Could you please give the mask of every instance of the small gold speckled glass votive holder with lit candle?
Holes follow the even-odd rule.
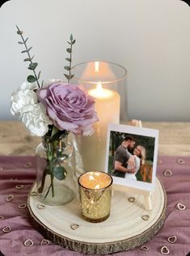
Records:
[[[107,220],[111,210],[112,176],[100,171],[78,177],[82,217],[90,222]]]

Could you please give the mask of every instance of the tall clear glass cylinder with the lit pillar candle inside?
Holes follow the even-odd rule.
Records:
[[[108,124],[120,123],[120,119],[125,119],[127,112],[127,70],[116,63],[103,61],[82,62],[72,70],[72,82],[83,85],[88,94],[95,97],[95,110],[99,117],[99,122],[93,125],[94,134],[75,138],[77,171],[105,171]]]

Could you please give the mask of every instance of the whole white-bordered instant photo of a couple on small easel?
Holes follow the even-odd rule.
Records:
[[[105,171],[116,185],[154,190],[158,130],[109,124]]]

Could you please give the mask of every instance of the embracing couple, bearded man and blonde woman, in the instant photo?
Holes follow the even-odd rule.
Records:
[[[137,145],[132,136],[126,136],[124,141],[116,148],[113,161],[113,176],[125,177],[127,179],[137,180],[136,174],[146,160],[146,148]],[[133,150],[133,154],[130,151]]]

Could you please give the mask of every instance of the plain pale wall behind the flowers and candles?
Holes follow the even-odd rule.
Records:
[[[44,79],[63,78],[66,41],[74,64],[103,59],[128,70],[128,118],[190,121],[190,7],[179,0],[11,0],[0,9],[0,118],[28,75],[15,24],[29,36]]]

